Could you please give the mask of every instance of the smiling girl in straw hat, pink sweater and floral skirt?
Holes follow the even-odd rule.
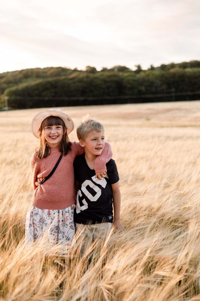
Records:
[[[73,161],[84,149],[79,143],[69,141],[73,129],[73,121],[61,109],[41,111],[32,120],[32,133],[39,138],[40,145],[30,160],[34,194],[26,216],[26,244],[33,244],[44,233],[53,244],[70,244],[74,237]],[[111,157],[110,144],[105,143],[102,154],[95,160],[99,179],[105,176],[105,164]]]

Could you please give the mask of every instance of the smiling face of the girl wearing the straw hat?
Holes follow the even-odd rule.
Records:
[[[62,140],[62,135],[66,132],[66,128],[63,129],[62,126],[45,126],[44,137],[47,140],[47,144],[50,148],[60,145]]]

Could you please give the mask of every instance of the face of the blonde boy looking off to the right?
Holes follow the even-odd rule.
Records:
[[[85,141],[80,140],[80,145],[84,147],[85,153],[98,156],[104,149],[104,138],[104,131],[100,133],[92,131],[88,133]]]

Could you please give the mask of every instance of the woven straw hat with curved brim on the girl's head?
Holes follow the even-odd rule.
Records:
[[[36,138],[39,138],[39,128],[41,127],[42,121],[49,116],[60,117],[64,121],[67,128],[67,135],[73,131],[73,121],[67,114],[63,113],[61,109],[44,110],[36,114],[31,123],[31,130]]]

